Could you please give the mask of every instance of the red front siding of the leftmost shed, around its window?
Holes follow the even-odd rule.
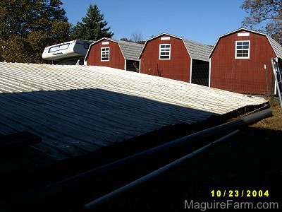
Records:
[[[102,45],[102,42],[109,42],[109,45]],[[110,47],[109,61],[101,61],[101,48]],[[125,69],[125,59],[121,53],[118,43],[110,40],[101,40],[90,47],[87,56],[87,65],[90,66],[108,66],[116,69]]]

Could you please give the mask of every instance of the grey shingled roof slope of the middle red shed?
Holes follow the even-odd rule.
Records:
[[[183,42],[185,43],[192,59],[209,61],[209,53],[212,52],[212,47],[192,40],[183,39]]]

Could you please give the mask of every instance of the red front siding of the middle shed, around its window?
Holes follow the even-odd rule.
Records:
[[[147,42],[140,58],[141,73],[189,82],[191,59],[183,40],[176,37],[161,40],[161,37],[171,36],[162,35]],[[159,59],[160,44],[171,44],[171,59]]]

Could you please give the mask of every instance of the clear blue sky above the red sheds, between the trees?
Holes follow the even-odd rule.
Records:
[[[111,27],[114,39],[142,34],[169,33],[214,45],[219,35],[237,30],[247,15],[244,0],[61,0],[68,21],[75,25],[86,16],[90,4],[97,4]]]

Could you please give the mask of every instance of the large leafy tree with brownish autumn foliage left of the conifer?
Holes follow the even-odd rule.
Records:
[[[1,0],[0,60],[42,63],[44,47],[70,35],[61,5],[60,0]]]

